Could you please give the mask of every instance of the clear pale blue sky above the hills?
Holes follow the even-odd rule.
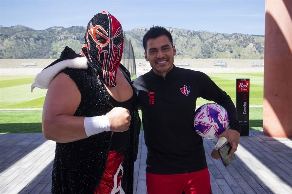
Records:
[[[86,26],[103,10],[124,30],[160,25],[228,34],[265,32],[265,0],[0,0],[0,25],[36,30]]]

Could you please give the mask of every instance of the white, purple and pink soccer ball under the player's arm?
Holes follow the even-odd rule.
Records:
[[[196,132],[206,139],[215,139],[229,128],[228,112],[215,103],[200,106],[194,117]]]

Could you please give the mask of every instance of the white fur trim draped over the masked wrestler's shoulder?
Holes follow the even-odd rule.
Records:
[[[34,88],[48,89],[50,82],[54,77],[66,67],[75,69],[87,69],[86,57],[76,57],[74,59],[66,59],[60,61],[46,69],[43,69],[39,74],[36,75],[33,84],[30,87],[31,92]]]

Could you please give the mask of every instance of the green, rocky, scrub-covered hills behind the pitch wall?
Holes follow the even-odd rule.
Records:
[[[221,34],[167,28],[176,45],[177,59],[263,59],[264,36]],[[124,32],[125,45],[131,39],[135,58],[144,58],[142,38],[148,28],[135,28]],[[85,27],[51,27],[34,30],[25,26],[0,26],[0,59],[59,58],[65,46],[80,50]],[[126,55],[127,56],[127,55]]]

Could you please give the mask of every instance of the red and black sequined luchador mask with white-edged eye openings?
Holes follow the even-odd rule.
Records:
[[[123,53],[123,29],[120,22],[106,11],[96,14],[88,23],[81,55],[94,68],[102,68],[103,80],[116,86],[116,72]]]

